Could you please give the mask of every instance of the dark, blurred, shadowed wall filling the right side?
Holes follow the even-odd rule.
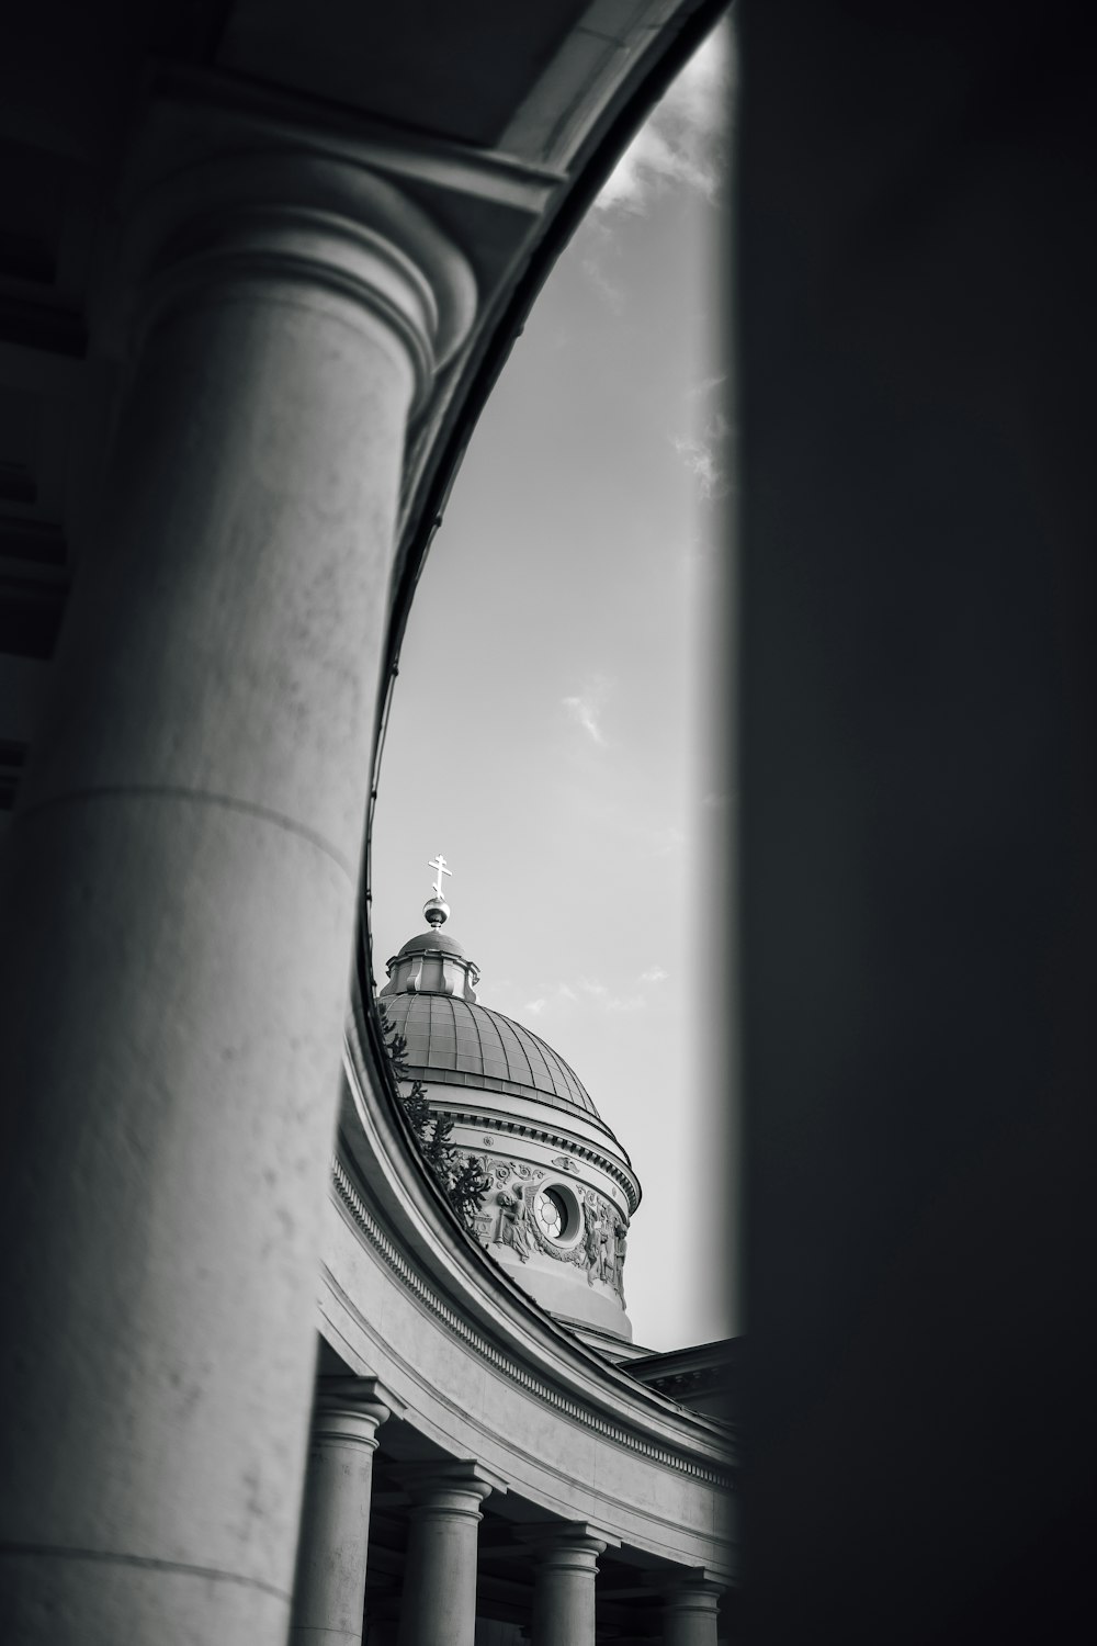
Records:
[[[737,12],[747,1638],[1066,1638],[1094,1490],[1092,25]]]

